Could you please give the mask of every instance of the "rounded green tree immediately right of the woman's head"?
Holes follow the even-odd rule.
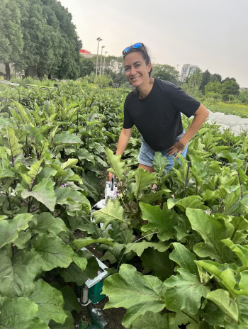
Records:
[[[172,84],[179,84],[179,71],[175,67],[164,64],[152,65],[152,76],[162,80],[171,82]]]

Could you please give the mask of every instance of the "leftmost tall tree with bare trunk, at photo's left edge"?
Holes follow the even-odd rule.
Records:
[[[17,62],[23,50],[21,13],[16,0],[1,0],[0,45],[0,62],[4,62],[6,79],[10,79],[9,64]]]

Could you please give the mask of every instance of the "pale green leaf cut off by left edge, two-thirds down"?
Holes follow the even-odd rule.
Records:
[[[0,221],[0,248],[16,240],[18,238],[18,232],[26,230],[32,218],[33,215],[30,213],[21,213],[13,219],[3,219]]]

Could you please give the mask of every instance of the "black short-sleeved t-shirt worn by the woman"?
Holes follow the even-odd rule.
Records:
[[[200,105],[180,87],[154,79],[145,99],[139,99],[137,91],[126,97],[123,128],[135,125],[152,150],[164,151],[174,145],[176,137],[184,131],[181,113],[189,118]]]

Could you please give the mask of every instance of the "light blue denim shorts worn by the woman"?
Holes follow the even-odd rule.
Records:
[[[184,134],[185,134],[185,131],[183,131],[183,133],[181,133],[181,135],[179,135],[176,138],[176,142],[178,142],[179,139],[182,138]],[[187,149],[188,149],[188,144],[186,145],[184,150],[181,152],[181,155],[184,157],[184,159],[186,159]],[[152,148],[149,145],[147,145],[147,143],[145,143],[145,140],[142,138],[142,144],[141,144],[141,147],[140,147],[140,154],[139,154],[139,157],[137,158],[140,165],[153,167],[153,157],[155,155],[155,152],[156,151],[152,150]],[[167,155],[167,151],[162,151],[161,153],[162,153],[162,155],[164,155],[164,157],[167,157],[167,160],[169,161],[168,165],[165,167],[165,170],[164,170],[164,174],[166,174],[169,170],[171,170],[173,168],[173,166],[174,166],[174,157],[176,156],[176,154],[171,155],[169,157]],[[180,160],[179,160],[179,163],[181,163]]]

